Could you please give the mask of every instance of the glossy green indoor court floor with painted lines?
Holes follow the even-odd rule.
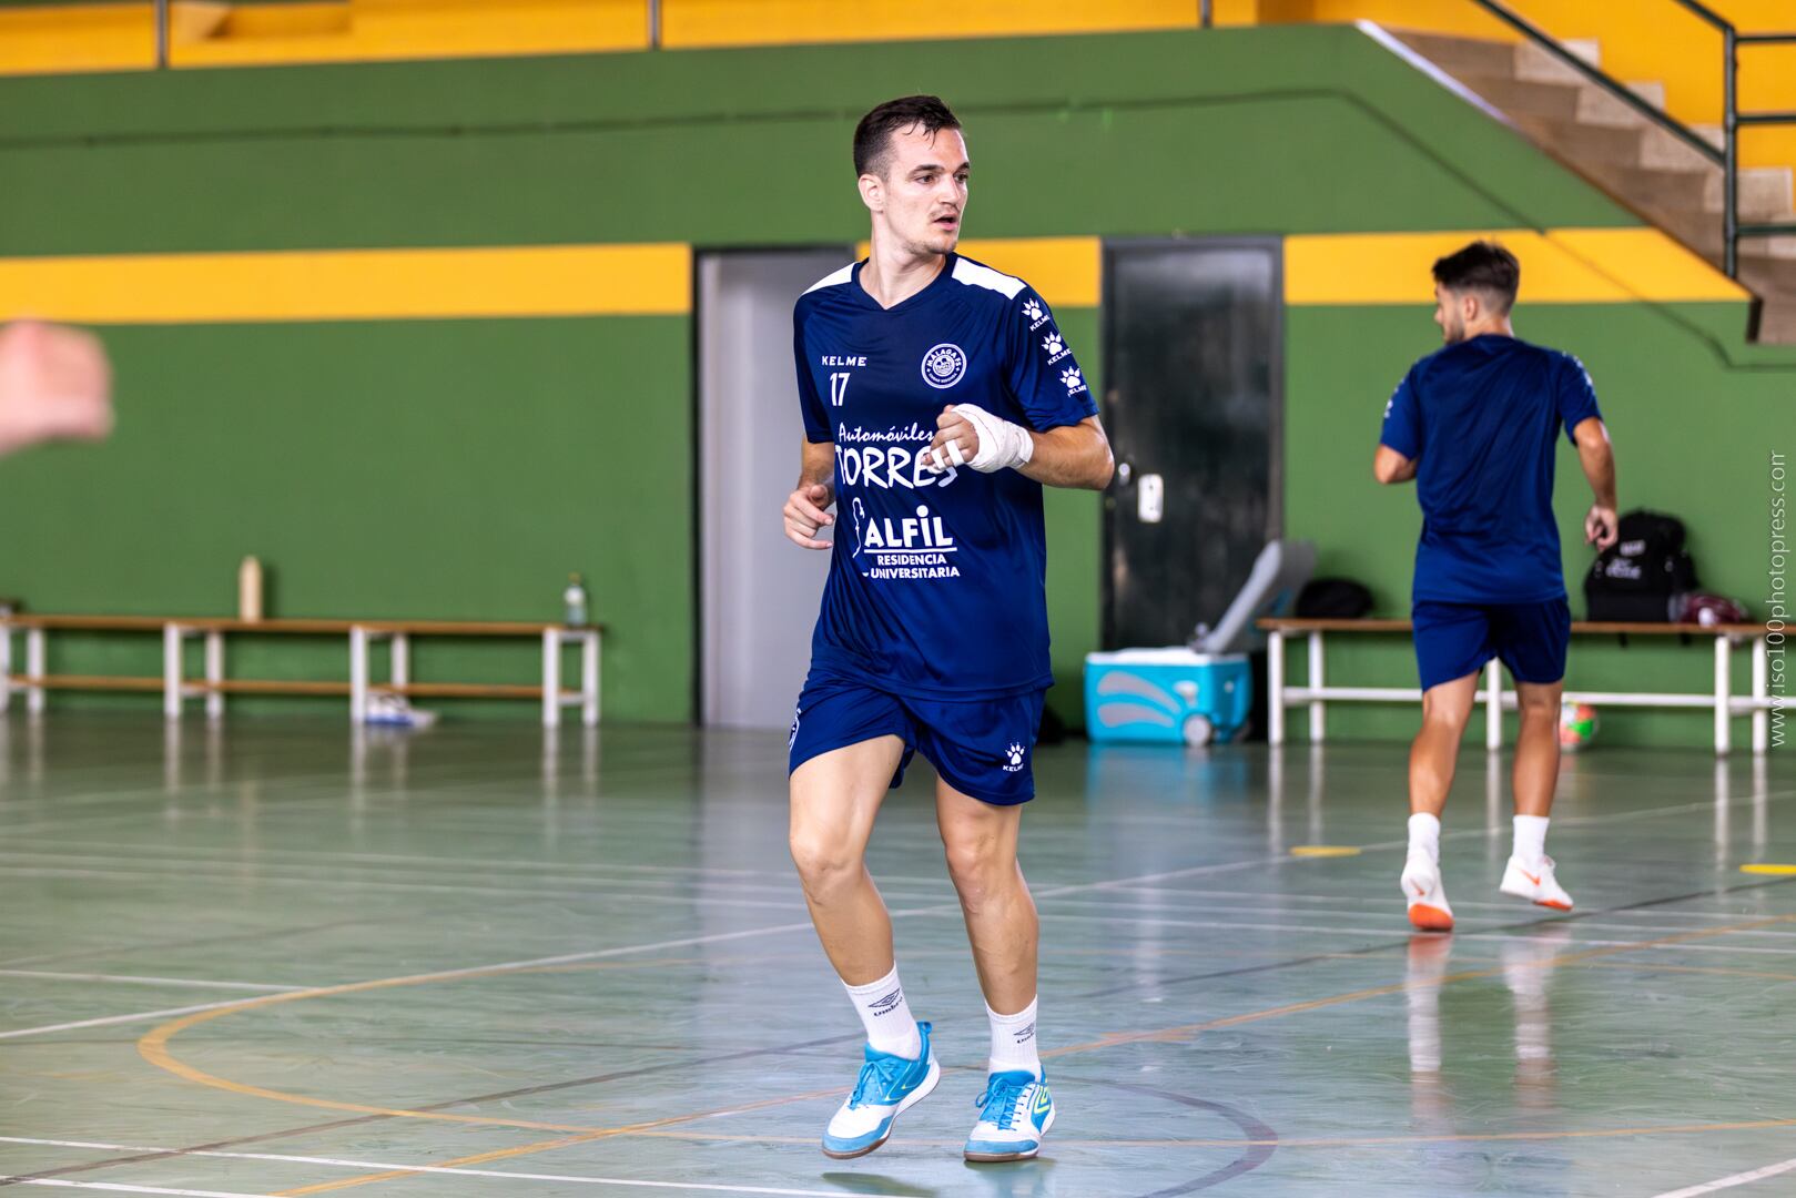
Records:
[[[1568,760],[1570,918],[1397,896],[1401,745],[1043,747],[1024,864],[1060,1121],[968,1166],[986,1022],[927,787],[873,868],[948,1072],[815,1141],[860,1033],[785,855],[781,735],[14,713],[0,1173],[147,1194],[1796,1193],[1796,771]],[[1293,855],[1334,846],[1336,855]],[[1356,850],[1356,851],[1352,851]]]

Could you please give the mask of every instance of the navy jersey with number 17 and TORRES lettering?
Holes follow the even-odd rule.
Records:
[[[835,444],[835,548],[812,670],[934,699],[1052,684],[1042,485],[1017,471],[921,469],[936,417],[977,404],[1045,433],[1097,415],[1020,278],[950,253],[889,309],[855,262],[792,313],[805,435]]]

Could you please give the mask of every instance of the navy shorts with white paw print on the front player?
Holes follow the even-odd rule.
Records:
[[[878,736],[903,740],[893,785],[921,753],[943,780],[984,803],[1034,797],[1034,733],[1047,691],[999,699],[907,699],[835,675],[812,674],[792,717],[788,771],[814,756]]]

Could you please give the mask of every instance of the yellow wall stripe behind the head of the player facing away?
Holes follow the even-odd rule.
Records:
[[[1748,298],[1656,228],[1500,228],[1286,237],[1284,302],[1433,304],[1430,266],[1475,237],[1492,237],[1521,260],[1521,304]]]

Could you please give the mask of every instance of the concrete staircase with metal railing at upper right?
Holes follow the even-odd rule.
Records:
[[[1401,31],[1394,36],[1566,167],[1721,266],[1722,172],[1695,149],[1537,45]],[[1597,63],[1595,43],[1566,43],[1566,48]],[[1629,86],[1665,106],[1663,84]],[[1695,131],[1721,145],[1719,126]],[[1789,167],[1742,169],[1739,192],[1742,223],[1796,221]],[[1740,284],[1758,298],[1753,336],[1796,343],[1796,237],[1742,237]]]

